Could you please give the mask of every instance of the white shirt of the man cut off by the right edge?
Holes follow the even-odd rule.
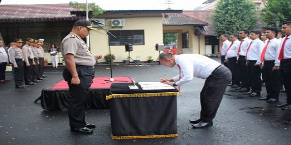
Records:
[[[283,59],[291,58],[291,35],[286,36],[286,37],[288,37],[288,39],[284,45],[284,58]],[[286,37],[282,38],[281,43],[278,47],[277,56],[276,56],[276,60],[275,60],[275,66],[280,66],[280,60],[278,60],[278,57],[279,57],[279,54],[281,51],[282,44],[283,44]]]

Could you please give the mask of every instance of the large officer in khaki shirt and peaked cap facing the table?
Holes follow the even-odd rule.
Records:
[[[63,39],[61,51],[66,68],[63,77],[68,83],[70,99],[68,103],[68,116],[71,131],[79,133],[93,133],[94,124],[87,124],[84,115],[84,102],[89,87],[94,78],[94,65],[96,59],[102,56],[93,56],[89,47],[82,40],[89,35],[92,27],[90,21],[78,20],[74,23],[72,31]]]

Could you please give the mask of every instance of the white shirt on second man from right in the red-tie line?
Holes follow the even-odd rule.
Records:
[[[280,43],[276,38],[271,39],[267,46],[264,60],[275,60],[279,45]]]

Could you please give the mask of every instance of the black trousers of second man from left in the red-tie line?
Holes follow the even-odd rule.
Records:
[[[238,85],[238,86],[240,86],[241,83],[238,80],[238,74],[237,74],[237,71],[238,71],[238,65],[236,63],[237,62],[237,57],[227,58],[227,60],[228,60],[228,69],[231,72],[231,82],[232,82],[232,85]]]

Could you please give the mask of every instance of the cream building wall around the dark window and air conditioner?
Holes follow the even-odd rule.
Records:
[[[125,18],[124,27],[112,27],[111,19],[105,21],[107,30],[138,30],[145,31],[145,45],[133,45],[133,51],[130,52],[132,59],[140,59],[146,61],[147,56],[153,56],[157,59],[159,52],[155,50],[156,43],[163,43],[162,33],[162,17],[142,17],[142,18]],[[98,29],[98,28],[97,28]],[[109,53],[109,40],[106,31],[99,28],[97,31],[90,31],[90,47],[94,55],[106,55]],[[125,46],[110,46],[111,54],[114,54],[116,59],[114,62],[122,62],[129,56],[125,52]],[[131,60],[132,61],[132,60]],[[100,59],[98,62],[105,62],[105,59]]]

